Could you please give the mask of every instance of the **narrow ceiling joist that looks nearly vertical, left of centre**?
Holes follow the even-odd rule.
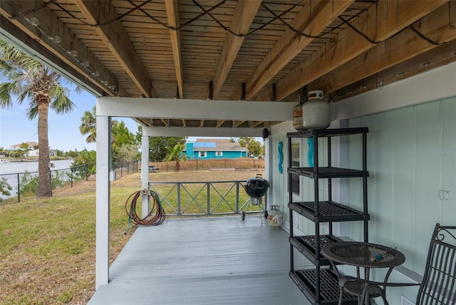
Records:
[[[170,29],[170,38],[172,46],[172,56],[174,57],[174,66],[176,71],[177,91],[179,98],[184,98],[184,83],[182,79],[182,58],[180,55],[180,30],[176,30],[180,25],[179,19],[179,1],[165,0],[168,26]]]

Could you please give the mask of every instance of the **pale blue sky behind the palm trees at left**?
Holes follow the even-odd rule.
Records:
[[[71,85],[64,86],[69,88]],[[96,98],[86,91],[76,93],[71,90],[70,99],[76,104],[72,113],[58,115],[53,110],[49,110],[49,146],[51,150],[62,151],[81,151],[84,148],[95,150],[95,143],[86,143],[87,136],[81,135],[79,125],[81,125],[83,113],[92,110]],[[12,108],[0,108],[0,147],[9,149],[12,145],[24,142],[38,143],[38,117],[28,120],[25,115],[27,106],[28,100],[24,100],[21,105],[14,103]],[[131,133],[137,132],[138,128],[134,120],[130,118],[118,118],[118,120],[123,120]]]

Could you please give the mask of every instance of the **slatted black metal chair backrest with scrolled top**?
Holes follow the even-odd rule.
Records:
[[[456,227],[435,225],[417,305],[456,305]]]

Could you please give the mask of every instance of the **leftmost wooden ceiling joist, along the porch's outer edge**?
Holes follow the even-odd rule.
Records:
[[[83,45],[76,35],[68,29],[68,27],[63,24],[63,22],[60,21],[55,14],[53,14],[48,6],[44,6],[33,13],[33,16],[35,16],[39,21],[38,26],[29,24],[24,17],[20,16],[21,13],[32,11],[35,8],[36,1],[0,1],[1,15],[5,16],[6,19],[9,19],[11,24],[14,24],[17,29],[24,31],[24,33],[46,48],[49,52],[56,56],[56,58],[63,61],[63,63],[65,63],[68,67],[71,67],[82,76],[86,76],[86,78],[93,83],[94,86],[97,86],[108,95],[115,96],[116,93],[112,88],[109,88],[105,84],[101,83],[102,80],[107,81],[109,85],[116,86],[119,92],[121,90],[123,91],[123,88],[118,86],[118,79],[110,73],[108,68],[106,68],[103,63],[98,61],[98,58],[96,58],[96,56],[94,56],[93,53],[91,53],[88,48]],[[2,23],[1,26],[4,27],[6,24]],[[61,42],[58,44],[50,39],[57,35],[61,37]],[[23,42],[26,43],[25,40]],[[69,51],[76,51],[78,56],[71,56]],[[83,64],[86,62],[89,64],[88,68]],[[63,65],[58,64],[58,66]],[[92,67],[97,67],[97,71],[103,79],[95,76],[95,71]],[[81,79],[81,83],[85,81],[86,80]],[[128,97],[129,95],[123,96]]]

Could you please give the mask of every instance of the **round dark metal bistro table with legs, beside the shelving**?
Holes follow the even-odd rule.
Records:
[[[358,300],[366,286],[366,282],[361,278],[360,268],[364,268],[364,279],[369,279],[371,268],[388,268],[388,272],[383,280],[383,282],[386,282],[393,268],[405,262],[404,254],[398,250],[368,242],[332,242],[326,244],[321,249],[321,253],[333,266],[333,270],[336,272],[339,281],[342,276],[338,272],[336,264],[347,264],[356,267],[356,276],[359,280],[347,281],[340,289],[341,295],[342,290],[345,290],[354,296],[358,296]],[[380,296],[381,292],[379,288],[372,287],[369,290],[369,296]],[[342,299],[339,298],[339,305],[341,301]],[[366,304],[369,304],[368,299],[366,299]]]

